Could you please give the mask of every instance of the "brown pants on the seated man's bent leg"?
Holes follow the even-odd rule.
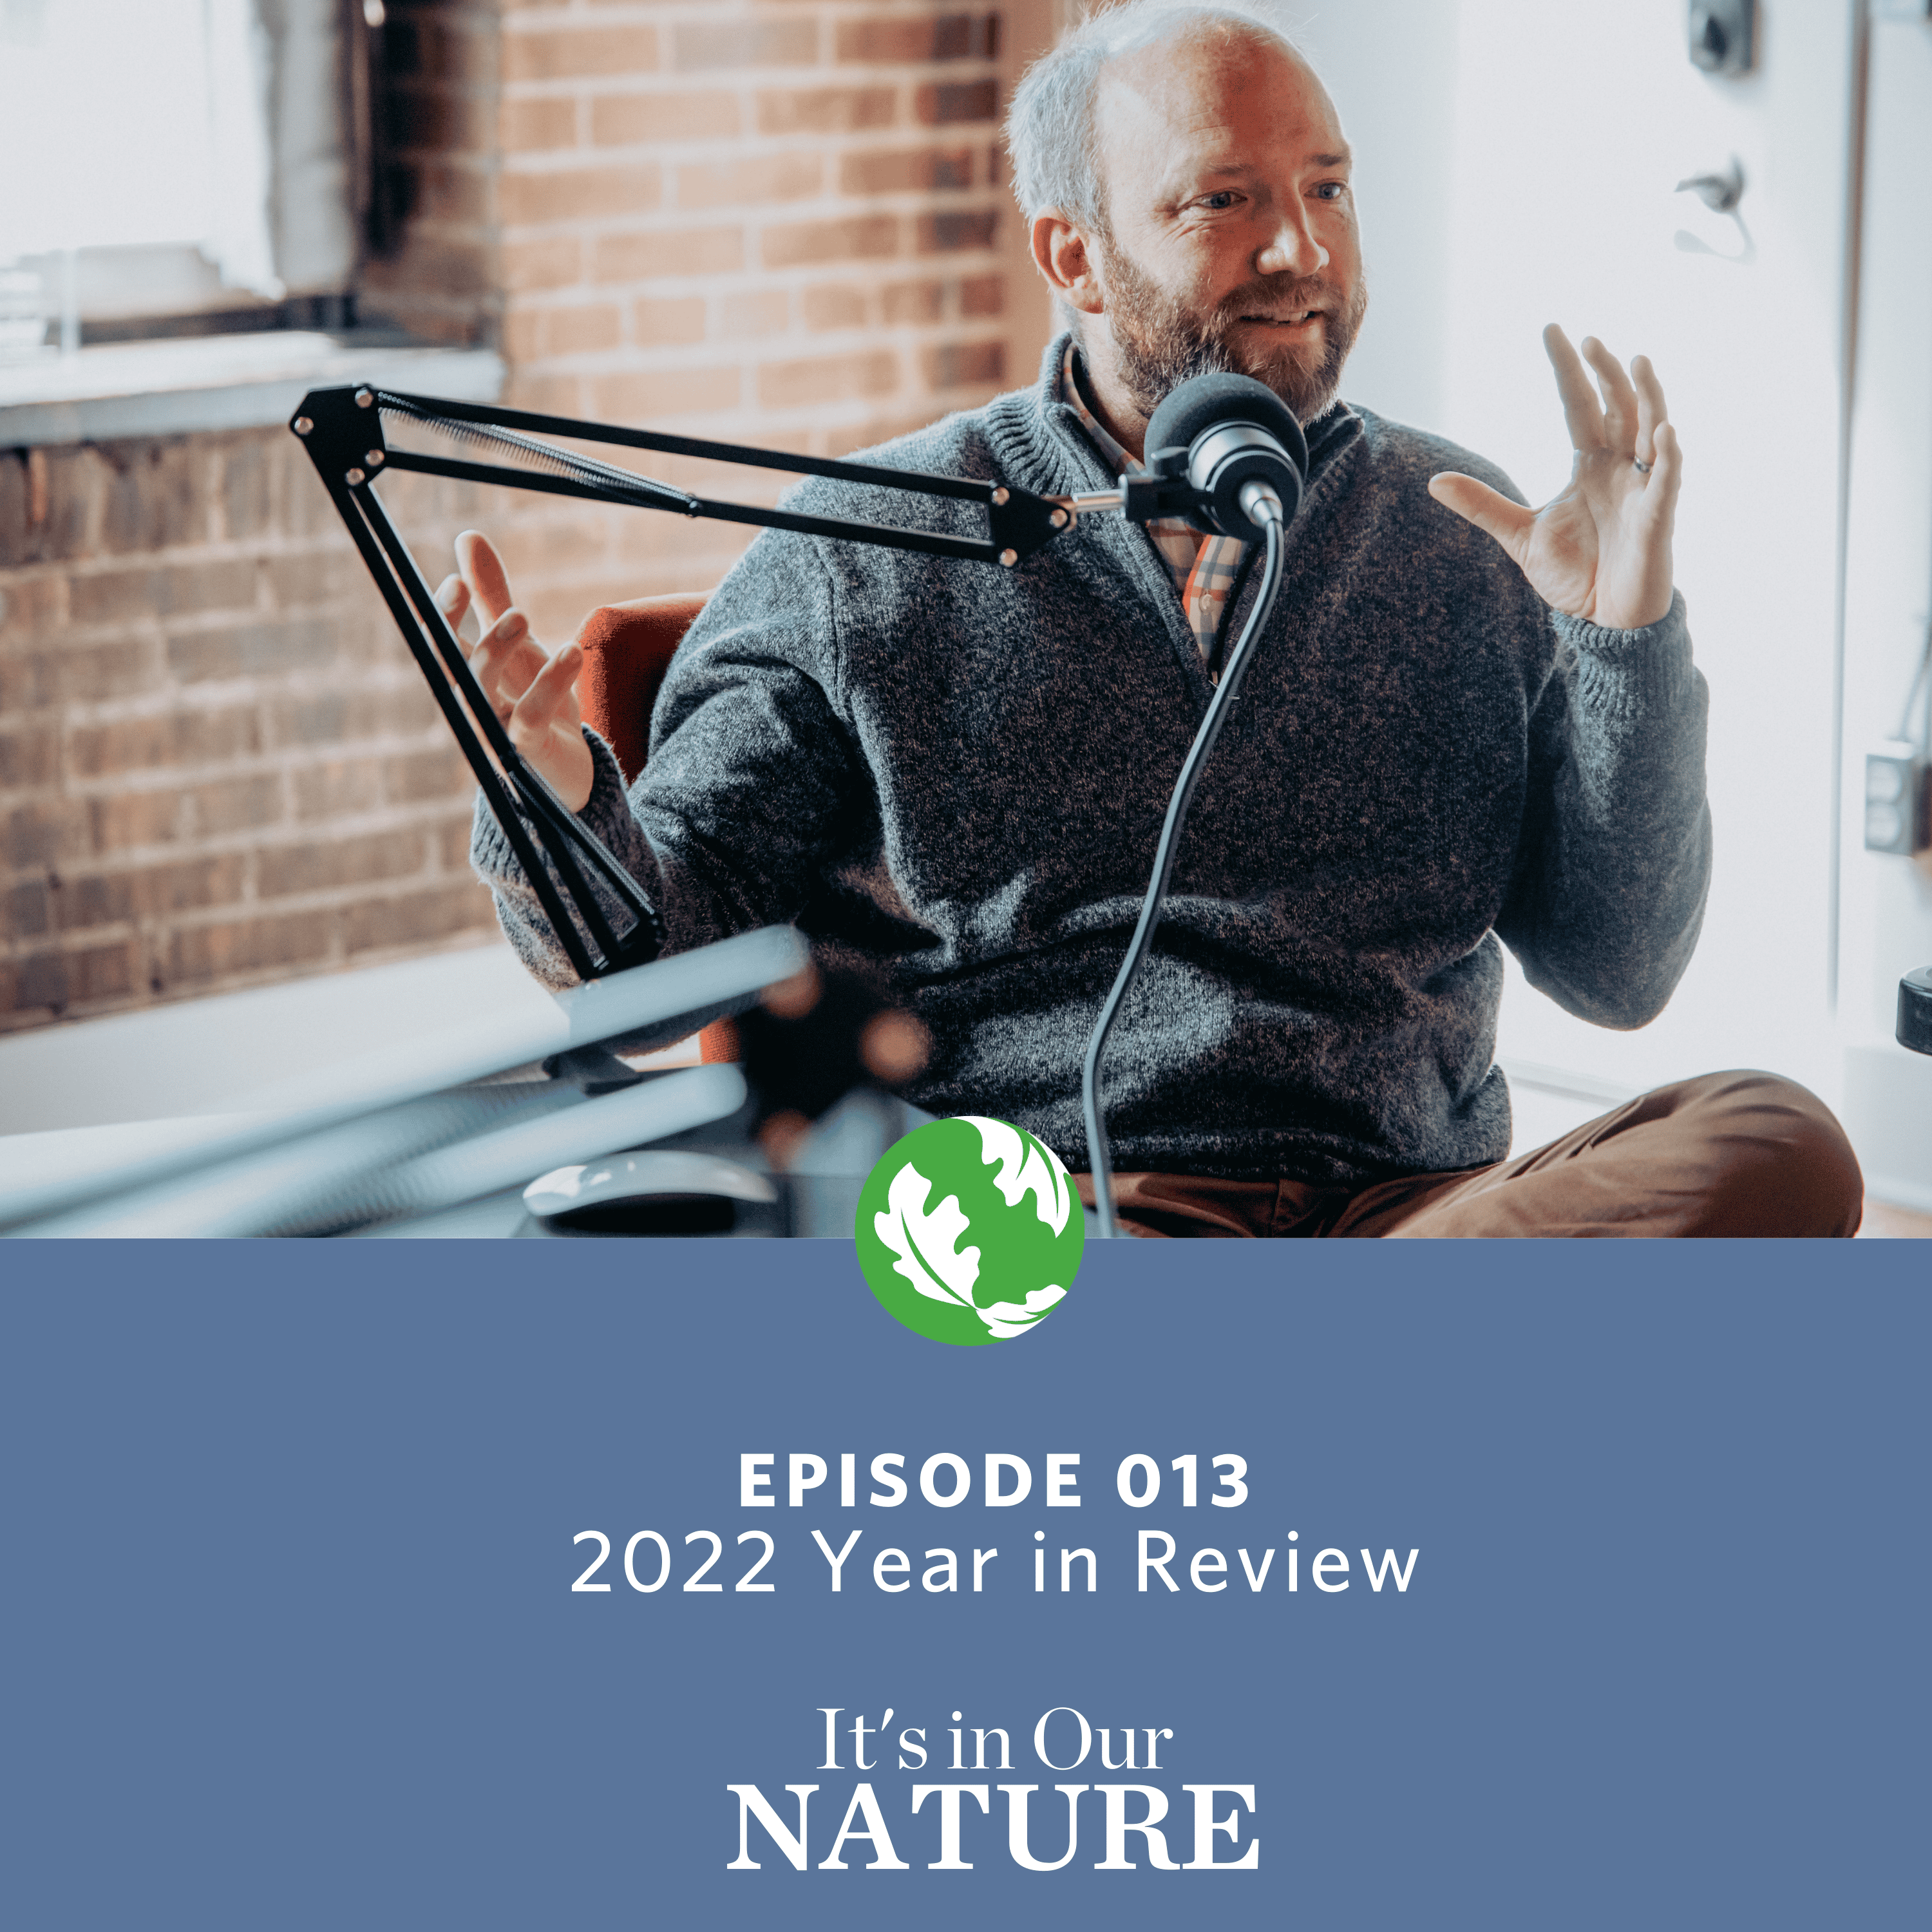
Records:
[[[1094,1206],[1094,1182],[1074,1177]],[[1115,1175],[1130,1235],[1855,1235],[1864,1179],[1814,1094],[1704,1074],[1493,1167],[1370,1188]]]

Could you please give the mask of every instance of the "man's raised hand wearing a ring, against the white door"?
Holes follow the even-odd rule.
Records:
[[[1445,471],[1430,477],[1430,495],[1495,537],[1544,603],[1605,630],[1656,624],[1671,607],[1671,526],[1683,479],[1663,386],[1644,355],[1625,375],[1596,336],[1584,336],[1578,355],[1555,323],[1544,330],[1544,348],[1577,446],[1569,487],[1540,510],[1524,510],[1474,477]]]

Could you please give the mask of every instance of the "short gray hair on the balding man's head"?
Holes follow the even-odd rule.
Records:
[[[1012,93],[1007,155],[1020,213],[1032,220],[1041,209],[1059,209],[1068,220],[1105,234],[1107,203],[1094,126],[1101,71],[1122,54],[1186,33],[1258,41],[1298,56],[1264,6],[1265,0],[1124,0],[1088,14],[1020,75]]]

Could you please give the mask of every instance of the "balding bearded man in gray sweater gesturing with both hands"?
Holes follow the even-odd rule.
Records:
[[[1308,427],[1283,589],[1196,796],[1107,1061],[1136,1233],[1835,1233],[1824,1107],[1729,1074],[1517,1161],[1501,945],[1569,1010],[1642,1026],[1710,871],[1704,682],[1671,591],[1681,458],[1656,375],[1548,348],[1577,469],[1493,468],[1335,402],[1366,305],[1349,147],[1265,23],[1136,0],[1026,77],[1034,259],[1072,319],[1039,388],[883,452],[1037,495],[1105,489],[1182,377],[1260,377]],[[821,514],[923,518],[811,483]],[[1151,541],[1150,541],[1151,537]],[[626,800],[481,539],[448,609],[518,744],[651,891],[672,949],[796,920],[933,1039],[912,1097],[1084,1165],[1078,1066],[1227,639],[1238,545],[1082,520],[1018,570],[767,531],[680,651]],[[554,939],[504,840],[477,864],[531,966]]]

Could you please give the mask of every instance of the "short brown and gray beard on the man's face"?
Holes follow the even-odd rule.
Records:
[[[1188,377],[1225,373],[1265,383],[1293,412],[1312,423],[1333,404],[1341,388],[1341,367],[1354,348],[1368,311],[1368,284],[1356,280],[1354,298],[1343,309],[1329,309],[1335,290],[1314,276],[1277,276],[1235,290],[1211,315],[1182,307],[1111,243],[1099,255],[1107,292],[1107,321],[1113,325],[1115,359],[1134,408],[1151,417],[1167,394]],[[1325,328],[1320,361],[1312,363],[1293,344],[1273,352],[1238,354],[1227,328],[1254,309],[1323,307]]]

